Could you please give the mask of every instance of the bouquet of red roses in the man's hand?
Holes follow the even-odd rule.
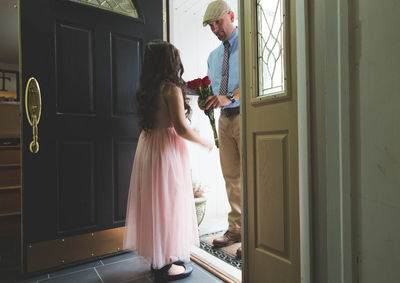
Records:
[[[213,95],[210,89],[210,83],[211,82],[208,76],[205,76],[202,79],[195,79],[187,82],[187,87],[191,90],[194,90],[200,96],[200,106],[205,106],[206,98]],[[208,119],[210,119],[211,127],[214,133],[215,146],[219,148],[218,134],[217,129],[215,128],[214,108],[211,107],[208,110],[204,110],[204,113],[208,116]]]

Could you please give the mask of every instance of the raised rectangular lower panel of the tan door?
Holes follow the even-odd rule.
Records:
[[[256,246],[264,253],[288,256],[287,133],[257,133],[254,137],[256,172]],[[269,225],[263,225],[268,223]]]

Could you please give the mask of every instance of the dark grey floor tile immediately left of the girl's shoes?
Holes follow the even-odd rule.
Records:
[[[96,270],[104,283],[127,282],[150,274],[150,266],[141,257],[99,266]]]

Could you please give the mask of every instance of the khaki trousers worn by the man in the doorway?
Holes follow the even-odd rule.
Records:
[[[240,115],[219,118],[219,156],[231,206],[228,230],[241,232]]]

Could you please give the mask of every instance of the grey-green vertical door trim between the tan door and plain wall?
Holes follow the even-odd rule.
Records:
[[[312,279],[350,283],[350,4],[346,0],[307,1],[312,104]]]

